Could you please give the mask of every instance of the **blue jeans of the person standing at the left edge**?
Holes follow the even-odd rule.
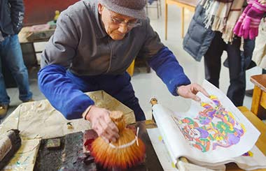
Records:
[[[6,92],[2,67],[8,67],[18,85],[20,101],[29,101],[32,93],[29,91],[29,76],[24,64],[18,35],[7,36],[0,42],[0,104],[8,105],[10,98]]]

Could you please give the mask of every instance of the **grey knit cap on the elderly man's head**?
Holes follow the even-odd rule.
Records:
[[[99,0],[99,3],[113,12],[137,19],[146,19],[144,10],[146,0]]]

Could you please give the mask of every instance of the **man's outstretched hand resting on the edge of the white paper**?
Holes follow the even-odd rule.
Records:
[[[196,96],[197,92],[202,92],[205,96],[209,97],[209,94],[199,84],[183,85],[177,89],[177,94],[183,98],[192,98],[194,101],[200,101],[200,98]]]

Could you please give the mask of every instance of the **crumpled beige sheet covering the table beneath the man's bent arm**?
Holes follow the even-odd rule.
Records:
[[[86,93],[99,107],[108,110],[120,110],[125,114],[127,124],[135,123],[134,112],[104,91],[92,91]],[[72,125],[72,128],[67,126]],[[62,137],[69,133],[76,133],[90,129],[90,122],[85,119],[67,120],[63,114],[55,110],[47,100],[33,101],[19,105],[0,124],[0,134],[10,129],[19,129],[21,137],[42,139]]]

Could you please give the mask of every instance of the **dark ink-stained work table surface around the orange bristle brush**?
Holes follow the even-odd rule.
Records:
[[[146,128],[151,128],[154,125],[152,123],[144,121],[138,121],[134,124],[139,127],[139,137],[146,145],[146,157],[145,162],[141,165],[137,165],[128,170],[130,171],[146,171],[146,170],[163,170],[162,165],[153,149],[151,140],[148,137]],[[41,147],[39,149],[38,158],[36,159],[36,165],[34,170],[59,170],[58,168],[64,168],[64,170],[101,170],[108,171],[103,168],[95,168],[95,163],[85,165],[82,160],[83,153],[83,133],[72,133],[61,137],[62,146],[58,150],[48,150],[45,148],[46,140],[42,140]],[[65,156],[65,157],[62,157]],[[64,159],[63,159],[64,158]]]

